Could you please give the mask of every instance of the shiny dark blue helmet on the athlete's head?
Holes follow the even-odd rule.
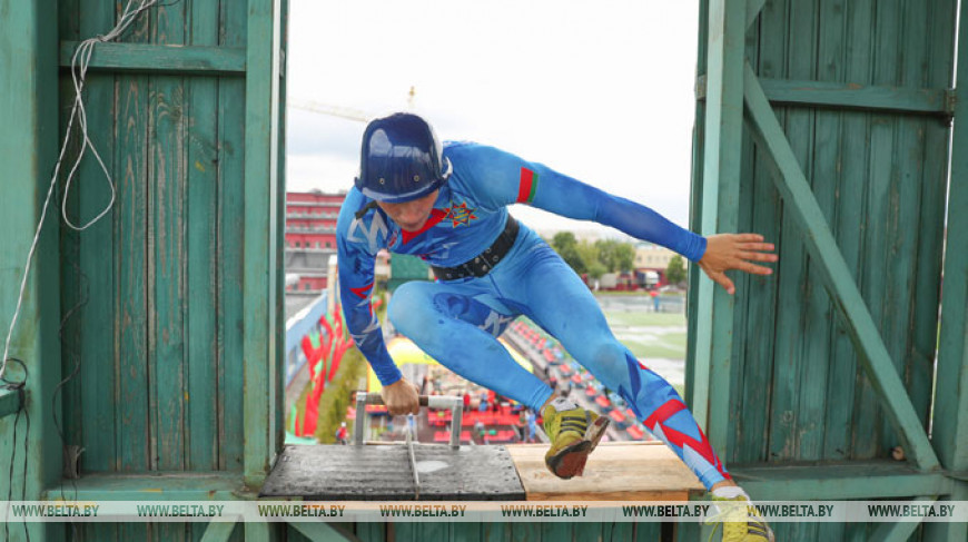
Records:
[[[363,132],[356,188],[377,201],[409,201],[439,188],[451,161],[434,129],[416,115],[398,112],[369,122]]]

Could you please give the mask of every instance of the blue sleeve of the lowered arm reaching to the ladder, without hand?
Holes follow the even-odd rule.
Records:
[[[388,386],[403,375],[389,357],[371,305],[376,253],[386,240],[386,226],[383,217],[374,211],[369,217],[356,218],[362,196],[354,196],[354,193],[347,195],[336,221],[339,299],[346,328],[356,347],[369,362],[381,384]]]

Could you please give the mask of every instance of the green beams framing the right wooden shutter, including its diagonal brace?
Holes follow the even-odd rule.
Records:
[[[916,496],[934,501],[941,496],[965,500],[968,484],[957,473],[968,470],[968,253],[952,247],[945,259],[947,279],[942,297],[935,430],[929,441],[771,107],[773,101],[954,116],[959,100],[952,100],[951,91],[945,89],[762,81],[743,59],[743,41],[747,28],[764,3],[763,0],[711,0],[709,4],[704,91],[703,81],[698,85],[698,98],[705,99],[703,188],[697,205],[701,233],[734,230],[743,136],[742,121],[738,117],[744,114],[748,134],[761,154],[769,158],[768,161],[772,161],[776,187],[803,235],[807,252],[817,263],[830,298],[847,325],[862,368],[902,441],[909,464],[858,462],[842,466],[823,465],[822,470],[817,465],[754,466],[733,467],[732,472],[758,499]],[[968,18],[961,22],[968,22]],[[962,87],[968,89],[968,30],[964,24],[960,28],[959,76],[955,95],[964,101],[968,100],[968,90],[962,90]],[[735,80],[738,72],[742,72],[739,82]],[[739,107],[738,95],[743,104]],[[968,176],[968,130],[959,130],[957,120],[955,127],[948,228],[960,233],[968,229],[968,183],[964,181]],[[720,388],[730,386],[710,386],[710,382],[730,382],[732,299],[722,288],[713,288],[712,282],[705,278],[701,278],[698,286],[691,406],[700,424],[707,427],[713,446],[723,450],[729,435],[729,391]],[[875,535],[877,540],[906,540],[916,526],[883,526]],[[926,530],[937,533],[931,540],[965,540],[968,533],[962,524],[932,524]]]

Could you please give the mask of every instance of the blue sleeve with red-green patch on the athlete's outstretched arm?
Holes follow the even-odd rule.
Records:
[[[476,144],[452,149],[455,168],[474,179],[480,200],[492,207],[527,204],[577,220],[611,226],[638,239],[674,250],[691,262],[705,254],[705,237],[681,228],[659,213],[612,196],[543,164]]]

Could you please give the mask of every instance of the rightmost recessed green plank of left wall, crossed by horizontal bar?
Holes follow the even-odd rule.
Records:
[[[247,7],[220,2],[223,45],[244,47]],[[245,227],[245,81],[223,79],[218,88],[218,443],[219,469],[243,470],[243,238]]]

